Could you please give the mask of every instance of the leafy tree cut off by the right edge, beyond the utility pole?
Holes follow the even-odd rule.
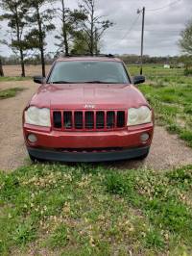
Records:
[[[180,48],[183,53],[192,55],[192,20],[186,25],[186,28],[180,33]]]

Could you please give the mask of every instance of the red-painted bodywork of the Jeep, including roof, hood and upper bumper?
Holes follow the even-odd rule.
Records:
[[[57,62],[74,61],[109,61],[121,62],[111,58],[64,58]],[[121,62],[122,63],[122,62]],[[64,148],[134,148],[150,146],[154,133],[152,123],[126,127],[119,130],[105,131],[64,131],[53,129],[53,111],[84,111],[86,104],[94,105],[94,111],[125,111],[129,108],[149,106],[143,94],[133,85],[128,84],[64,84],[40,86],[29,103],[29,106],[51,109],[51,128],[38,127],[25,123],[23,118],[23,133],[27,147],[64,149]],[[86,110],[87,111],[87,110]],[[127,117],[126,117],[127,123]],[[147,132],[150,139],[142,143],[140,136]],[[29,134],[35,134],[36,143],[27,140]]]

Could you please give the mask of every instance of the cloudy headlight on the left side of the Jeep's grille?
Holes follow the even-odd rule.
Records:
[[[38,109],[36,107],[30,107],[25,112],[25,122],[28,124],[51,127],[50,110],[46,108]]]

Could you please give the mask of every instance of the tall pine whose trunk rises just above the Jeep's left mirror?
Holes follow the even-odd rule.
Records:
[[[32,12],[27,20],[33,29],[26,36],[27,47],[29,49],[38,49],[42,66],[42,76],[45,77],[45,38],[48,32],[55,29],[52,23],[55,9],[48,8],[47,4],[54,3],[54,0],[27,0],[28,6]]]

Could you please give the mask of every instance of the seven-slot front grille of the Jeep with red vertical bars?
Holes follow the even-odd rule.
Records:
[[[125,111],[53,111],[53,127],[59,130],[108,131],[125,126]]]

